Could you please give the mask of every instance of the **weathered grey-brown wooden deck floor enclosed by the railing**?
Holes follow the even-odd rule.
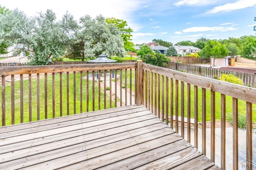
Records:
[[[220,169],[144,106],[0,128],[0,169]]]

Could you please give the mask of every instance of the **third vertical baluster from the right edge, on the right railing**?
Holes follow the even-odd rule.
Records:
[[[226,169],[226,95],[221,94],[221,136],[220,159],[222,169]]]

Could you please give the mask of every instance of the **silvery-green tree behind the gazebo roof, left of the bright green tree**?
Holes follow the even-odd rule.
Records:
[[[124,56],[124,41],[121,31],[114,24],[107,24],[102,15],[92,19],[89,15],[80,18],[81,31],[76,35],[77,42],[84,42],[85,57],[96,57],[101,53]]]

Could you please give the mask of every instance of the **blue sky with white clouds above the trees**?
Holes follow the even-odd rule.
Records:
[[[121,19],[132,28],[134,44],[153,39],[173,44],[202,37],[223,40],[256,33],[256,0],[0,0],[0,5],[18,8],[27,16],[50,9],[58,20],[66,11],[77,21],[100,14]]]

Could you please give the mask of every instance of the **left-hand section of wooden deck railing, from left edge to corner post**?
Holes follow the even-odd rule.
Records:
[[[2,67],[0,125],[134,104],[135,73],[136,63]]]

